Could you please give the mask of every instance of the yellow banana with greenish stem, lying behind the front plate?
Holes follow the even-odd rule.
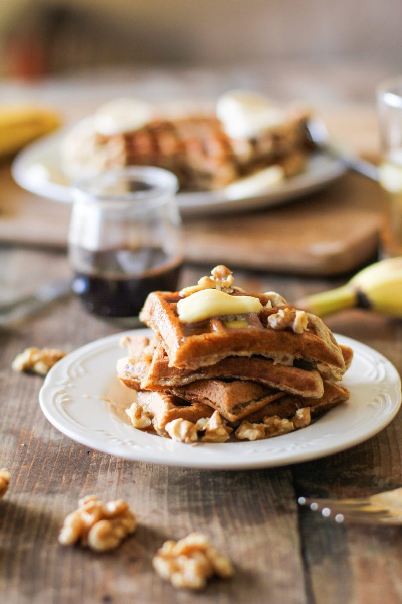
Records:
[[[357,306],[402,317],[402,256],[375,262],[340,288],[313,294],[295,306],[319,316]]]

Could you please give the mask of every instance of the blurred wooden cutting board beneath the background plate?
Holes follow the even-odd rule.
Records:
[[[186,260],[289,274],[342,274],[374,257],[383,193],[348,174],[325,191],[249,213],[184,221]],[[0,171],[0,241],[66,248],[70,208],[23,191]]]

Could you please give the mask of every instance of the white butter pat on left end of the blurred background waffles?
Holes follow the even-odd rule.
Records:
[[[152,119],[150,104],[134,98],[116,98],[99,107],[95,113],[96,132],[105,136],[134,132]]]

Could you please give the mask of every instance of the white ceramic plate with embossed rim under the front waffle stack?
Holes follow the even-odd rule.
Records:
[[[149,334],[148,330],[133,333]],[[274,439],[184,445],[137,430],[123,419],[124,413],[117,413],[121,402],[115,394],[115,367],[124,356],[119,347],[122,335],[96,340],[61,359],[39,393],[43,413],[58,430],[110,455],[207,469],[281,466],[324,457],[369,439],[391,422],[401,405],[401,381],[394,365],[368,346],[336,335],[339,343],[354,350],[343,382],[351,392],[347,403],[307,428]],[[124,390],[129,392],[129,406],[136,394]]]

